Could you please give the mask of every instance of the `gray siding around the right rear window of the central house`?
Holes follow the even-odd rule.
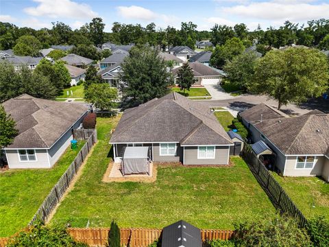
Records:
[[[215,158],[198,159],[197,146],[184,147],[184,165],[228,165],[230,146],[217,146]]]

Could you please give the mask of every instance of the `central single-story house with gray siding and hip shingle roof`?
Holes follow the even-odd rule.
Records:
[[[210,108],[175,92],[125,110],[110,143],[115,162],[125,147],[147,146],[152,161],[183,165],[228,165],[234,145]]]

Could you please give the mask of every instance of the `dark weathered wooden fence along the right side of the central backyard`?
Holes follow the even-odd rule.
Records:
[[[243,158],[252,169],[252,172],[258,183],[265,189],[265,192],[269,195],[271,200],[278,205],[283,213],[287,213],[291,217],[295,217],[300,224],[304,227],[307,220],[302,211],[297,208],[293,200],[287,195],[286,191],[273,177],[271,172],[263,165],[263,163],[257,158],[256,154],[252,152],[252,148],[249,145],[245,145],[243,149]]]

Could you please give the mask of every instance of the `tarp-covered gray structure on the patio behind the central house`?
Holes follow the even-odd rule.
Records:
[[[123,154],[123,175],[149,173],[149,147],[127,147]]]

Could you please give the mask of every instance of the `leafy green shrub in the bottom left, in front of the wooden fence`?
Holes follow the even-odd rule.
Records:
[[[38,222],[31,226],[28,231],[21,231],[8,242],[8,247],[41,247],[41,246],[69,246],[88,247],[87,244],[75,242],[73,237],[66,231],[66,227],[55,225],[45,226]]]

